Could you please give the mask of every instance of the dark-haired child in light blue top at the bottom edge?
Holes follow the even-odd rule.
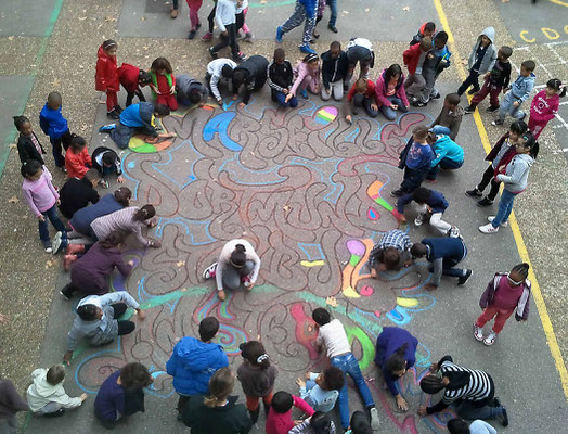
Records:
[[[306,381],[296,380],[300,387],[300,398],[305,399],[315,411],[328,412],[335,407],[339,391],[344,388],[344,372],[336,367],[328,367],[323,372],[307,372]]]

